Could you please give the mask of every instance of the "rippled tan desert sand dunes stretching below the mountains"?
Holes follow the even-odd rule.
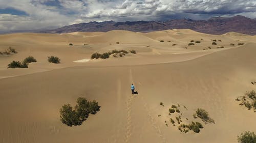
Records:
[[[188,46],[190,40],[201,43]],[[0,35],[0,51],[18,52],[0,55],[0,142],[237,142],[241,132],[256,129],[256,113],[234,100],[256,90],[250,83],[256,81],[255,41],[239,33],[191,30]],[[113,49],[137,54],[90,60],[93,52]],[[29,55],[37,63],[7,69]],[[61,63],[49,63],[51,55]],[[138,94],[131,94],[131,83]],[[78,97],[96,100],[101,108],[81,126],[68,127],[59,109],[74,106]],[[181,105],[184,123],[201,122],[192,116],[197,108],[216,123],[203,124],[200,133],[180,132],[169,123],[173,104]]]

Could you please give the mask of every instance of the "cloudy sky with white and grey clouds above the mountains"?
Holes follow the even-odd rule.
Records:
[[[90,21],[136,21],[243,15],[255,0],[0,0],[0,32],[55,28]]]

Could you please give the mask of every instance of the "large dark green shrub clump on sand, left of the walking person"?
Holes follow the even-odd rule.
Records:
[[[95,114],[99,111],[98,102],[87,101],[85,98],[79,97],[75,109],[70,104],[63,105],[60,112],[60,121],[67,126],[81,125],[89,117],[89,113]]]

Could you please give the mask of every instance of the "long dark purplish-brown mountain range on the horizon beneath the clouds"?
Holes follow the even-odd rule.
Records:
[[[71,33],[71,32],[108,32],[112,30],[127,30],[133,32],[152,32],[168,29],[187,29],[207,34],[225,34],[237,32],[256,35],[256,19],[241,15],[234,17],[212,17],[208,20],[174,19],[168,21],[104,21],[68,25],[40,33]]]

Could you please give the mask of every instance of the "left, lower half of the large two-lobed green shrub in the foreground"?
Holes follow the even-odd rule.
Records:
[[[63,124],[66,124],[67,126],[77,126],[81,125],[82,122],[79,120],[78,113],[73,110],[72,106],[70,104],[63,105],[60,110],[60,121]]]

